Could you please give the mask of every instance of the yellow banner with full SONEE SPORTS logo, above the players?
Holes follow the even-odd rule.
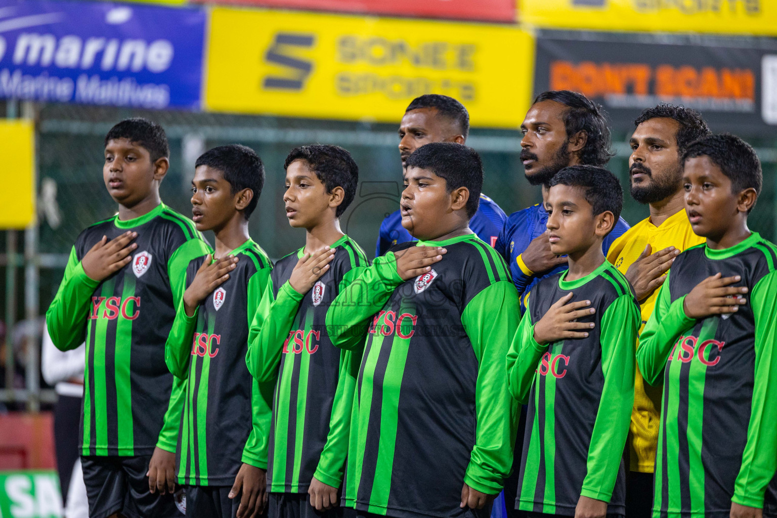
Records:
[[[208,110],[399,122],[425,93],[455,97],[481,127],[528,109],[531,35],[513,26],[215,8]]]

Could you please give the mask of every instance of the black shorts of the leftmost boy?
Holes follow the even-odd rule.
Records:
[[[127,518],[180,518],[183,514],[169,493],[148,491],[148,461],[136,457],[81,457],[89,518],[122,513]]]

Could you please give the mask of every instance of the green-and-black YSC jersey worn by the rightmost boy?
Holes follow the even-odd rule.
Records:
[[[729,516],[772,506],[777,468],[777,247],[754,232],[729,249],[674,259],[639,339],[645,381],[664,382],[653,516]],[[709,276],[741,276],[747,304],[695,320],[685,295]]]

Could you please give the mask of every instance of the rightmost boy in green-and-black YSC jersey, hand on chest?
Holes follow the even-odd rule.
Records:
[[[664,383],[653,516],[777,516],[777,247],[747,228],[761,163],[721,134],[682,164],[706,244],[674,259],[639,339],[639,370]]]

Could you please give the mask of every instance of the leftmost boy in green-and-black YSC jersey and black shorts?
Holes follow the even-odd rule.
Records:
[[[128,119],[108,132],[103,179],[119,212],[78,236],[46,313],[58,348],[86,341],[80,453],[92,518],[180,516],[183,382],[165,366],[165,340],[186,265],[210,247],[159,199],[168,156],[159,124]]]

